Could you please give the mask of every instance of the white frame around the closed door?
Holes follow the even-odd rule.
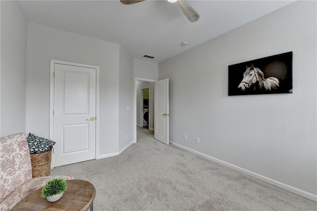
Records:
[[[54,139],[54,66],[55,64],[79,66],[96,69],[96,140],[95,140],[95,159],[99,157],[99,66],[81,64],[69,61],[50,60],[50,139]],[[52,153],[51,168],[54,167],[54,154]]]

